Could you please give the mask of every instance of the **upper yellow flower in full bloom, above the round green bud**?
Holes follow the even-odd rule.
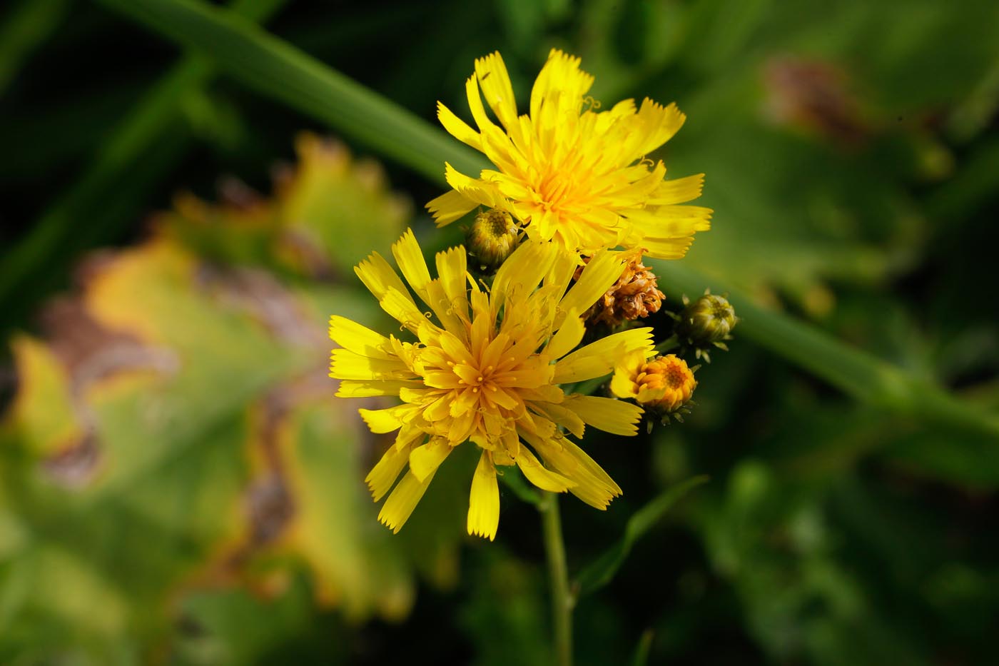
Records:
[[[664,180],[662,161],[646,156],[669,140],[685,116],[650,99],[635,110],[624,100],[607,111],[586,96],[593,77],[578,58],[558,50],[538,74],[529,115],[518,116],[499,53],[476,61],[466,93],[479,131],[438,103],[451,134],[496,165],[472,178],[446,164],[453,191],[427,207],[439,226],[479,205],[510,213],[527,235],[573,252],[644,248],[662,259],[682,257],[696,231],[710,227],[711,210],[680,206],[700,196],[703,174]],[[502,127],[486,113],[483,97]]]

